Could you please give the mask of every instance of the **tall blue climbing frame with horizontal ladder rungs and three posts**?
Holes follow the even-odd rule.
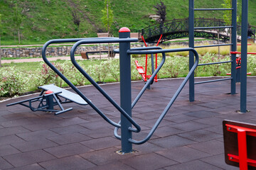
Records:
[[[194,0],[189,0],[189,14],[188,14],[188,32],[189,32],[189,47],[198,48],[198,47],[218,47],[224,45],[230,45],[231,51],[237,50],[237,0],[232,0],[232,7],[231,8],[194,8]],[[232,13],[232,21],[231,26],[216,26],[216,27],[201,27],[201,26],[194,26],[194,12],[195,11],[231,11]],[[246,91],[247,91],[247,23],[248,23],[248,1],[242,1],[242,33],[241,33],[241,84],[240,84],[240,113],[246,113]],[[225,29],[231,28],[232,34],[232,42],[227,44],[218,44],[218,45],[202,45],[196,46],[194,45],[194,30],[206,30],[206,29]],[[231,63],[231,77],[225,79],[215,79],[211,81],[201,81],[195,83],[195,78],[192,75],[189,79],[189,101],[195,101],[195,84],[203,84],[209,83],[213,81],[224,81],[230,80],[231,81],[231,88],[230,94],[235,94],[236,87],[236,55],[231,54],[231,60],[227,62],[214,62],[208,64],[222,64],[222,63]],[[193,66],[194,59],[193,53],[189,53],[189,68]],[[198,64],[198,66],[207,65],[207,64]]]

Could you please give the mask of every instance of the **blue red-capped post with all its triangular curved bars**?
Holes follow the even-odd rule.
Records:
[[[156,128],[161,123],[161,120],[163,120],[166,113],[169,111],[169,108],[171,108],[172,104],[176,100],[178,94],[180,94],[181,90],[185,86],[186,82],[188,81],[189,77],[193,74],[194,70],[196,69],[196,66],[198,64],[198,53],[193,48],[187,47],[187,48],[178,48],[178,49],[166,49],[161,50],[160,47],[140,47],[140,48],[130,48],[130,42],[137,42],[137,38],[129,38],[130,37],[130,31],[128,28],[121,28],[119,30],[119,38],[75,38],[75,39],[58,39],[58,40],[50,40],[46,42],[45,45],[43,45],[42,49],[42,57],[44,62],[48,64],[48,66],[53,69],[53,71],[58,74],[58,76],[63,79],[74,91],[77,93],[86,103],[88,103],[89,106],[91,106],[104,120],[106,120],[108,123],[113,125],[115,128],[114,130],[114,136],[117,137],[117,139],[121,140],[122,149],[121,153],[130,153],[132,152],[132,144],[142,144],[146,141],[148,141],[153,135]],[[82,73],[82,75],[90,81],[90,83],[95,86],[95,88],[102,94],[102,96],[105,96],[108,101],[114,106],[114,108],[117,108],[117,110],[121,113],[121,120],[119,123],[115,123],[114,121],[110,120],[110,118],[107,117],[102,111],[100,111],[97,106],[95,106],[90,99],[88,99],[82,92],[75,87],[71,81],[69,81],[53,64],[51,64],[47,57],[46,57],[46,48],[48,45],[52,43],[60,43],[60,42],[75,42],[73,47],[70,51],[70,59],[73,65]],[[117,104],[116,101],[114,101],[108,94],[105,92],[99,84],[97,84],[87,72],[85,72],[82,67],[76,62],[75,60],[75,50],[79,45],[82,44],[95,44],[95,43],[112,43],[112,42],[119,42],[119,50],[115,50],[115,52],[119,52],[119,69],[120,69],[120,105]],[[181,52],[181,51],[191,51],[195,55],[195,63],[193,64],[193,67],[191,68],[190,72],[188,72],[187,77],[183,80],[181,85],[178,87],[178,90],[174,94],[174,96],[171,98],[171,101],[169,101],[166,108],[164,108],[164,111],[161,113],[158,120],[156,120],[155,125],[150,130],[149,134],[144,138],[144,140],[134,140],[132,139],[132,132],[140,132],[141,128],[140,126],[132,119],[132,108],[136,105],[137,101],[139,101],[139,98],[144,94],[144,91],[146,91],[147,86],[151,83],[151,81],[154,81],[154,77],[156,77],[156,74],[159,72],[161,67],[163,66],[165,59],[166,59],[166,52]],[[146,84],[144,84],[144,87],[139,92],[137,97],[132,102],[132,84],[131,84],[131,59],[130,55],[146,55],[146,54],[162,54],[162,60],[159,66],[156,68],[154,73],[151,75],[148,81],[146,81]],[[134,128],[132,128],[134,126]],[[118,130],[121,128],[121,134],[122,136],[118,135]]]

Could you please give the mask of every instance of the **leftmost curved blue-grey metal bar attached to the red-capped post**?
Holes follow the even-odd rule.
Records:
[[[78,93],[93,109],[95,109],[95,111],[97,113],[99,113],[102,118],[104,120],[106,120],[108,123],[110,123],[111,125],[114,125],[115,127],[119,127],[121,128],[121,125],[119,125],[118,123],[114,123],[112,120],[110,120],[109,118],[107,118],[107,116],[105,116],[102,111],[100,111],[100,109],[98,109],[88,98],[85,97],[85,95],[83,95],[81,93],[80,90],[78,90],[78,88],[76,88],[56,67],[53,66],[53,64],[51,64],[49,62],[49,60],[46,57],[46,48],[48,47],[48,45],[52,44],[52,43],[60,43],[60,42],[78,42],[80,40],[90,40],[93,42],[97,42],[97,43],[102,43],[102,40],[117,40],[117,38],[71,38],[71,39],[55,39],[55,40],[49,40],[48,42],[46,42],[45,45],[43,45],[43,49],[42,49],[42,57],[43,57],[43,61],[46,62],[46,64],[48,64],[48,66],[53,69],[53,71],[58,74],[58,76],[63,79],[76,93]]]

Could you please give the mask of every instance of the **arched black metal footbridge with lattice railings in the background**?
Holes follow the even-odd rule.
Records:
[[[227,26],[223,19],[217,18],[195,18],[194,26],[197,28],[203,27],[216,27],[216,26]],[[252,26],[252,31],[255,33],[255,28]],[[241,26],[238,23],[238,41],[241,40]],[[195,37],[197,38],[210,38],[213,40],[228,41],[230,39],[230,28],[222,29],[198,29],[195,30]],[[160,35],[163,35],[161,42],[166,40],[172,40],[176,38],[188,37],[188,18],[174,19],[164,23],[161,26],[159,23],[139,30],[139,41],[142,42],[142,35],[146,42],[157,42]]]

